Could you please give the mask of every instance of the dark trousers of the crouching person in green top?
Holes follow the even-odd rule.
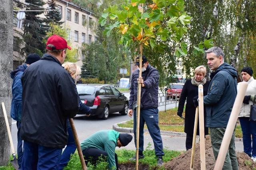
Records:
[[[82,150],[82,152],[85,157],[86,165],[88,164],[88,162],[95,165],[97,163],[97,160],[99,160],[99,157],[102,157],[107,161],[106,158],[108,156],[108,153],[105,152],[104,150],[100,150],[96,148],[86,148]],[[118,170],[118,158],[116,153],[115,153],[115,161],[116,161],[116,169]]]

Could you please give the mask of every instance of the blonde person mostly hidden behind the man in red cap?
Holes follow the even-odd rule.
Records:
[[[81,74],[81,68],[75,63],[70,63],[70,62],[66,62],[62,64],[62,66],[68,71],[70,76],[76,82],[76,80],[78,80],[79,75]],[[79,106],[80,106],[78,110],[79,113],[83,113],[83,114],[86,114],[86,116],[90,116],[90,114],[92,113],[92,110],[90,109],[90,107],[83,104],[80,99],[79,99]],[[76,151],[76,142],[74,139],[73,131],[70,126],[69,120],[67,120],[67,123],[68,123],[68,126],[67,126],[68,127],[68,143],[66,148],[62,152],[59,170],[62,170],[65,166],[67,166],[68,161],[70,160],[70,155],[74,154],[74,152]]]

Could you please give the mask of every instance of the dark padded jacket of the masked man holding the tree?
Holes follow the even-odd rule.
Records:
[[[138,81],[139,70],[135,70],[132,74],[131,86],[130,86],[130,100],[129,109],[132,109],[132,104],[137,101],[138,94]],[[156,68],[148,64],[146,71],[142,72],[144,88],[141,88],[141,104],[142,109],[158,107],[158,82],[159,73]]]

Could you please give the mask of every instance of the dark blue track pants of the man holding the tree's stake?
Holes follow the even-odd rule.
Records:
[[[134,142],[136,146],[136,109],[133,111],[133,133],[134,133]],[[143,146],[144,146],[144,124],[148,127],[148,132],[153,139],[154,149],[156,156],[163,156],[163,143],[162,137],[160,134],[160,128],[158,126],[158,108],[150,108],[150,109],[141,109],[140,110],[140,139],[139,139],[139,154],[143,154]]]

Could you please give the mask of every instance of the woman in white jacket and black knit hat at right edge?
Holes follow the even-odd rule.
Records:
[[[241,70],[244,82],[248,83],[243,104],[238,115],[243,133],[244,152],[256,162],[256,122],[249,119],[250,106],[255,102],[256,80],[252,77],[252,68],[244,67]],[[240,83],[237,85],[239,90]]]

